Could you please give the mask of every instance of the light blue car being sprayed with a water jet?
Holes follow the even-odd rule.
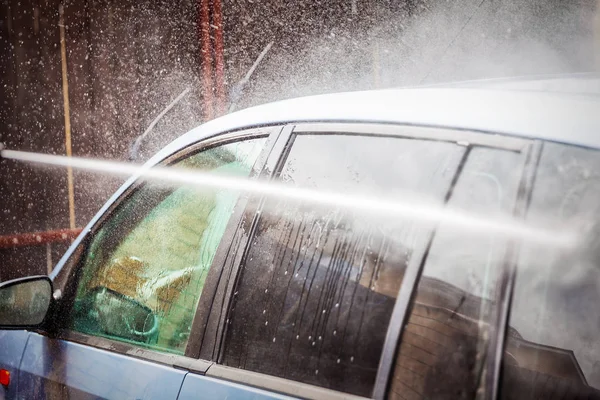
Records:
[[[0,397],[600,398],[600,99],[472,86],[176,139],[0,285]]]

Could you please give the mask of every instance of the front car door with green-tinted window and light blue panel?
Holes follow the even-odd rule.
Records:
[[[260,168],[269,135],[279,131],[217,136],[165,162],[188,176],[245,178]],[[200,298],[211,295],[206,277],[216,250],[243,208],[241,193],[189,180],[140,179],[126,190],[55,278],[50,333],[30,334],[18,397],[177,398],[186,366],[210,365],[190,357],[189,339],[206,307]]]

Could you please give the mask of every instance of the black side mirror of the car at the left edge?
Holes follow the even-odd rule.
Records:
[[[52,300],[52,281],[47,276],[30,276],[0,284],[0,329],[39,326]]]

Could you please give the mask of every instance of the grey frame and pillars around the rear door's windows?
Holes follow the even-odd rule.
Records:
[[[529,197],[531,191],[531,176],[533,175],[531,170],[535,168],[534,159],[539,152],[536,142],[527,138],[517,138],[510,135],[500,135],[495,132],[481,132],[473,130],[464,130],[460,128],[445,128],[435,126],[414,126],[406,124],[388,124],[388,123],[361,123],[361,122],[306,122],[297,123],[294,125],[286,125],[282,133],[277,138],[277,142],[274,145],[273,151],[268,155],[263,171],[260,174],[260,179],[271,180],[277,178],[281,168],[287,159],[289,150],[293,146],[294,139],[297,135],[310,134],[310,135],[356,135],[356,136],[378,136],[378,137],[395,137],[395,138],[407,138],[415,140],[431,140],[436,142],[450,142],[455,143],[459,146],[467,147],[467,151],[463,154],[463,160],[461,165],[458,166],[454,171],[454,178],[451,182],[451,186],[446,193],[445,202],[447,202],[452,194],[452,190],[458,181],[458,178],[462,173],[462,166],[464,165],[469,149],[473,147],[487,147],[498,149],[501,151],[515,152],[521,154],[523,165],[521,169],[521,179],[518,185],[517,191],[517,203],[515,206],[515,216],[521,215],[521,209],[523,208],[523,201],[526,202],[526,198]],[[533,165],[532,165],[533,163]],[[226,375],[226,379],[244,383],[250,377],[253,380],[253,386],[257,386],[266,390],[277,391],[290,395],[297,395],[302,393],[307,398],[338,398],[339,395],[362,398],[349,393],[338,392],[326,388],[315,388],[322,389],[322,391],[316,391],[314,394],[299,392],[306,387],[306,383],[272,377],[270,375],[247,371],[243,369],[237,369],[232,367],[226,367],[221,364],[224,354],[224,339],[226,336],[226,325],[227,315],[232,303],[233,291],[236,287],[240,278],[240,266],[243,263],[245,257],[249,251],[249,243],[255,235],[255,230],[258,225],[260,218],[260,210],[265,201],[262,196],[254,196],[251,201],[248,202],[246,209],[243,212],[242,220],[244,221],[242,238],[239,246],[241,254],[236,256],[234,262],[229,267],[223,267],[222,273],[229,276],[226,282],[220,282],[217,292],[222,297],[220,303],[214,304],[210,310],[210,316],[207,321],[212,320],[209,323],[207,329],[212,333],[214,339],[207,343],[207,347],[203,346],[201,350],[201,358],[210,359],[215,364],[206,372],[207,376],[213,376],[216,378],[223,378]],[[389,387],[391,374],[393,371],[393,364],[396,361],[396,348],[402,338],[402,327],[405,324],[406,319],[409,315],[409,307],[413,296],[416,293],[416,288],[419,284],[419,279],[424,268],[424,258],[431,246],[433,241],[434,233],[436,228],[428,230],[424,235],[428,236],[424,240],[424,244],[415,249],[416,257],[413,257],[407,266],[405,277],[399,289],[398,296],[396,297],[396,303],[394,305],[392,315],[390,316],[390,323],[388,325],[386,340],[382,350],[382,357],[377,372],[377,378],[375,380],[373,392],[369,398],[383,399],[386,397]],[[240,234],[238,232],[238,234]],[[495,399],[498,388],[498,377],[499,368],[501,361],[501,352],[504,346],[505,330],[507,326],[508,318],[508,307],[507,303],[509,300],[510,288],[514,281],[514,254],[516,253],[514,243],[509,243],[507,255],[505,257],[504,271],[502,271],[503,279],[501,282],[501,297],[499,298],[500,312],[495,315],[494,332],[496,335],[490,340],[489,347],[490,351],[494,356],[490,356],[487,359],[487,376],[485,377],[486,387],[486,398]],[[215,256],[215,260],[218,257]],[[221,255],[222,257],[222,255]],[[219,258],[222,260],[222,258]],[[209,353],[210,351],[210,353]],[[388,357],[385,357],[385,355]],[[225,372],[224,372],[225,371]],[[223,376],[222,376],[223,375]],[[264,379],[261,379],[264,378]],[[286,385],[281,385],[281,381],[286,382]],[[312,385],[309,385],[312,386]]]

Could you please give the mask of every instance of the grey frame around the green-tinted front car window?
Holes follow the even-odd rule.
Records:
[[[270,154],[273,145],[275,144],[277,137],[279,136],[282,129],[283,127],[281,125],[273,125],[259,128],[242,129],[233,132],[225,132],[190,144],[183,149],[178,149],[173,153],[165,156],[162,160],[158,161],[156,165],[170,165],[184,158],[193,156],[194,154],[229,143],[265,138],[265,144],[263,145],[263,148],[261,149],[259,156],[255,161],[250,172],[250,178],[256,179],[258,176],[257,171],[261,171],[264,168],[266,156]],[[156,362],[159,364],[185,369],[188,371],[194,371],[197,373],[204,373],[210,367],[210,365],[212,365],[212,362],[207,360],[201,360],[195,357],[195,354],[198,353],[198,351],[195,349],[195,346],[199,344],[196,343],[197,341],[192,340],[192,337],[194,336],[193,329],[194,327],[196,327],[197,319],[201,318],[202,315],[206,314],[206,310],[201,310],[202,303],[200,300],[198,303],[198,307],[196,308],[196,312],[194,313],[194,318],[192,320],[192,333],[190,334],[190,338],[188,339],[188,344],[183,355],[163,352],[155,349],[148,349],[142,346],[125,343],[118,340],[73,331],[65,327],[66,321],[69,320],[70,312],[73,308],[73,303],[77,292],[78,283],[81,279],[84,255],[89,249],[91,240],[95,237],[98,230],[100,230],[104,226],[104,224],[108,220],[110,220],[110,218],[112,218],[114,213],[118,209],[120,209],[121,205],[124,202],[128,201],[128,199],[130,199],[134,193],[142,189],[144,186],[145,183],[142,179],[138,179],[132,182],[119,195],[119,197],[112,201],[110,206],[99,216],[99,218],[94,222],[92,228],[86,232],[78,247],[69,255],[69,260],[65,263],[63,269],[59,272],[59,274],[54,278],[55,288],[59,288],[59,290],[62,289],[63,293],[61,294],[58,301],[55,302],[54,309],[52,310],[54,318],[48,318],[49,320],[54,321],[60,320],[60,322],[53,322],[53,326],[43,327],[39,331],[39,333],[50,333],[51,337],[54,337],[59,340],[84,344],[87,346],[116,352],[119,354],[143,359],[146,361]],[[238,208],[245,208],[246,201],[247,195],[240,195],[236,202],[235,209],[237,210]],[[222,244],[226,242],[226,235],[229,232],[231,232],[232,229],[236,229],[237,224],[239,223],[239,220],[236,219],[237,217],[240,217],[239,213],[234,213],[228,221],[227,227],[225,228],[225,233],[218,246],[219,249],[221,248]],[[215,263],[215,260],[213,260],[209,271],[212,271],[216,266],[218,266],[218,263]],[[206,296],[211,295],[215,289],[216,287],[210,286],[210,282],[208,282],[207,279],[207,282],[205,283],[200,298],[204,297],[205,294]],[[190,342],[192,341],[194,343],[190,345]]]

